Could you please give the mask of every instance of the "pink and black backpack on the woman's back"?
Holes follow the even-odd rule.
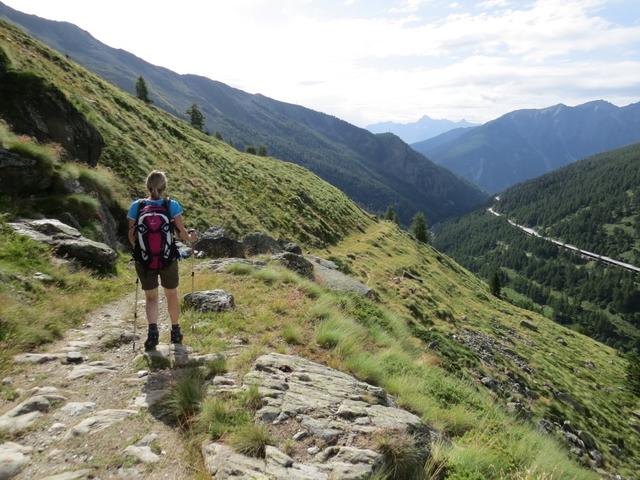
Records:
[[[178,258],[169,202],[169,198],[166,198],[162,205],[147,204],[145,200],[138,201],[134,256],[149,270],[166,267]]]

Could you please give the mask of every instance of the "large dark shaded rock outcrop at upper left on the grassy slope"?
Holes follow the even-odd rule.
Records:
[[[58,143],[70,159],[91,166],[98,163],[104,146],[102,136],[64,93],[41,77],[4,71],[0,82],[0,115],[16,133],[35,137],[42,143]]]

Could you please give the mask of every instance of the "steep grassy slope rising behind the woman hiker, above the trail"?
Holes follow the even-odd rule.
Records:
[[[118,90],[0,22],[0,47],[16,69],[31,70],[64,91],[103,135],[100,163],[131,196],[152,168],[165,170],[170,194],[197,227],[263,229],[311,245],[336,241],[370,222],[339,190],[302,167],[240,153],[183,121]]]

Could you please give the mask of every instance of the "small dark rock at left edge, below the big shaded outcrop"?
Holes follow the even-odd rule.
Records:
[[[41,164],[0,148],[0,193],[36,193],[51,187],[52,169]]]

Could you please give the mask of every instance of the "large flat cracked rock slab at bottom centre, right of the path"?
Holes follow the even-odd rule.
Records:
[[[395,407],[379,387],[300,357],[271,353],[244,378],[256,385],[263,407],[256,420],[297,432],[291,456],[267,446],[251,458],[221,443],[205,442],[208,471],[218,479],[365,479],[383,457],[372,447],[376,434],[409,434],[425,458],[430,432],[415,415]],[[290,434],[290,433],[289,433]]]

